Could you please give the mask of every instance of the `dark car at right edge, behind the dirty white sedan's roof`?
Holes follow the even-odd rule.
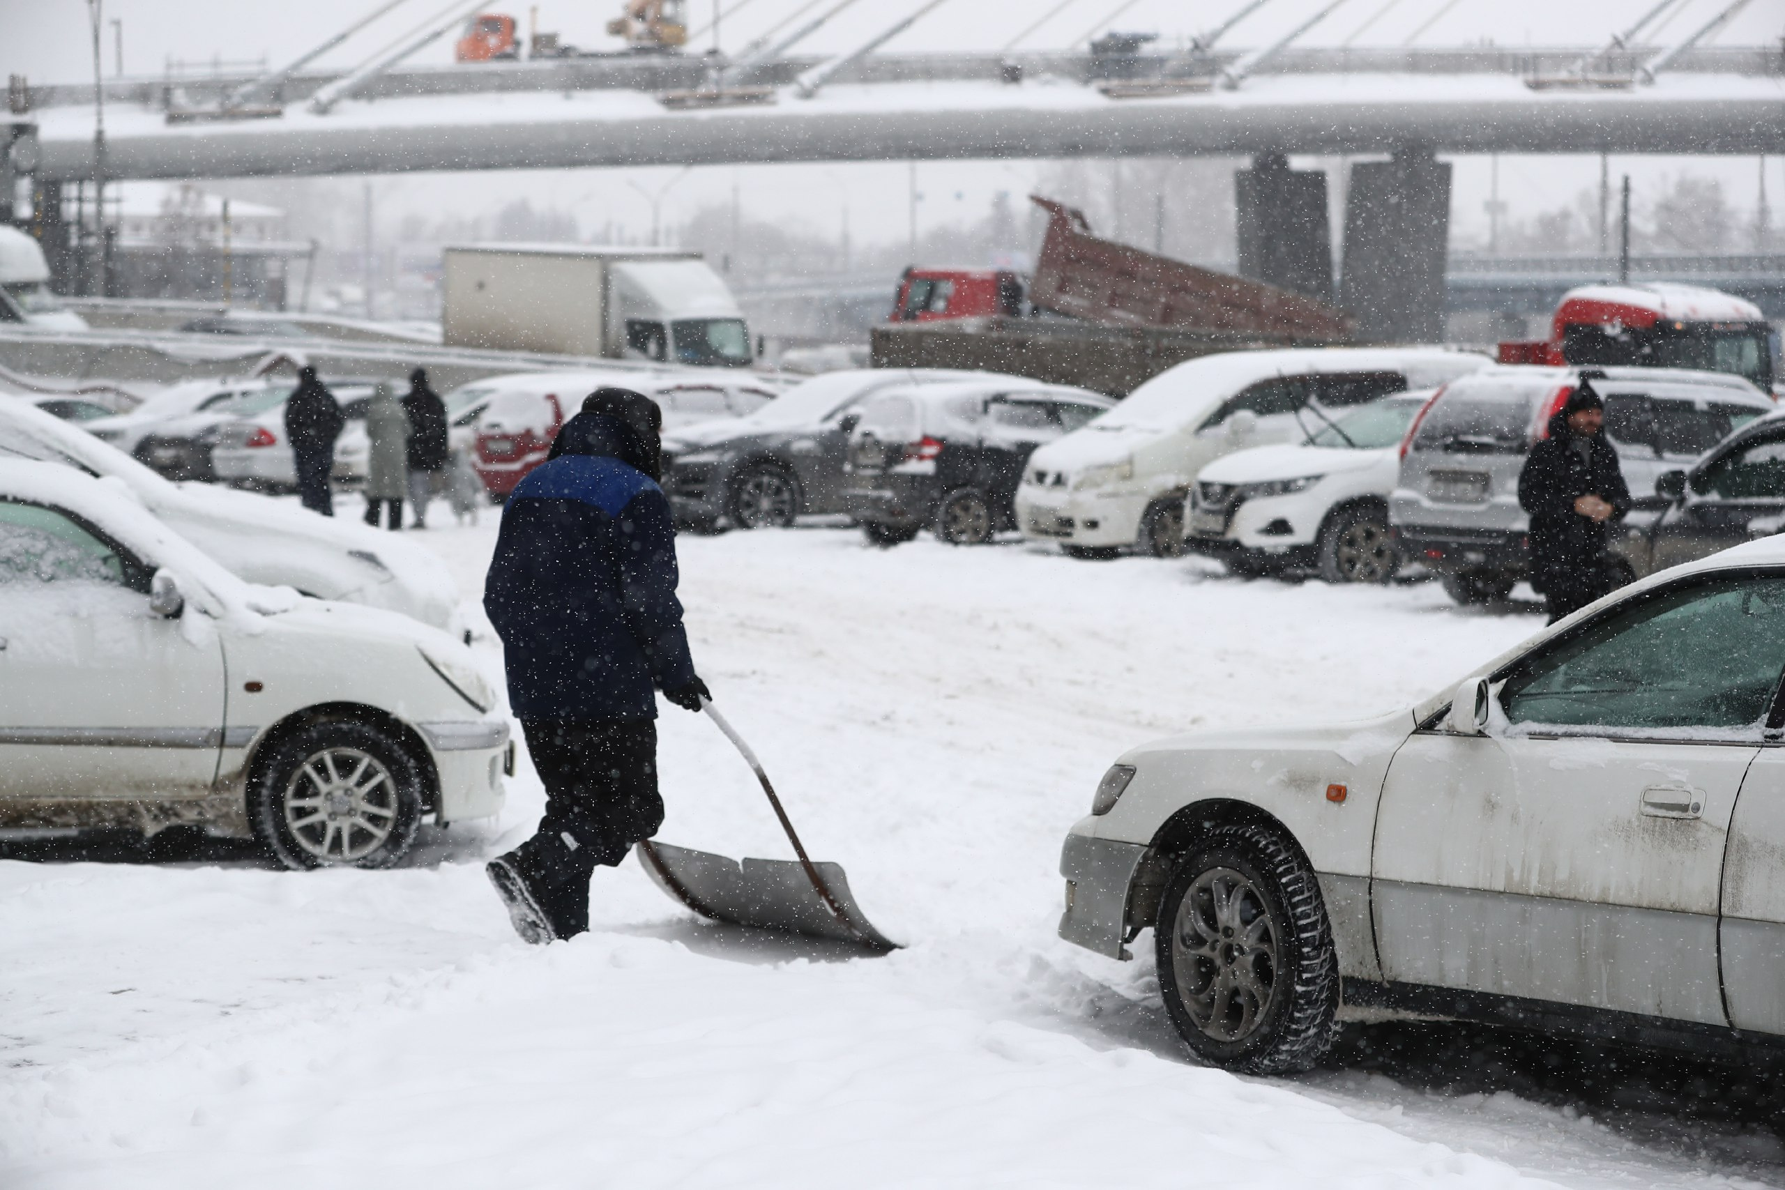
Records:
[[[1665,501],[1624,521],[1617,551],[1639,576],[1785,528],[1785,414],[1753,421],[1687,471],[1655,483]]]

